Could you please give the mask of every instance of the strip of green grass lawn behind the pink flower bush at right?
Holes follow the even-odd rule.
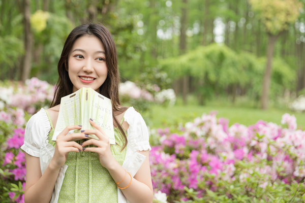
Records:
[[[176,126],[179,123],[193,121],[194,118],[202,114],[208,114],[211,111],[217,111],[217,118],[223,117],[229,119],[229,125],[241,123],[246,126],[255,124],[258,120],[264,120],[281,124],[282,115],[285,113],[293,114],[297,120],[298,128],[305,127],[305,113],[291,112],[285,109],[270,108],[267,111],[242,106],[220,106],[211,105],[199,106],[181,104],[172,107],[153,106],[149,112],[148,125],[152,128],[164,128]]]

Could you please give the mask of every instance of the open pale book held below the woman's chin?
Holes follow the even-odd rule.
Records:
[[[58,134],[69,125],[82,125],[83,130],[95,129],[89,122],[90,118],[102,127],[110,144],[115,145],[111,99],[85,87],[61,98],[52,140],[56,141]],[[69,134],[73,132],[80,130],[71,130]],[[89,134],[88,138],[98,140],[95,134]]]

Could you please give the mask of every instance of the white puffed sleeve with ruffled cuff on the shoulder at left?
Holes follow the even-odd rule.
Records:
[[[21,149],[29,155],[40,157],[40,148],[43,146],[50,128],[48,117],[42,108],[28,120]]]

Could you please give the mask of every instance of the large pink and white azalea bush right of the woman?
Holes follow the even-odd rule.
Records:
[[[304,183],[305,131],[297,130],[289,114],[283,115],[282,124],[288,127],[264,121],[229,127],[227,119],[212,112],[186,123],[180,133],[158,129],[160,145],[150,154],[155,191],[172,202],[190,199],[186,188],[193,188],[196,198],[204,198],[207,190],[222,191],[222,182],[248,184],[243,188],[247,193],[255,189],[249,186],[252,181],[260,188]]]

